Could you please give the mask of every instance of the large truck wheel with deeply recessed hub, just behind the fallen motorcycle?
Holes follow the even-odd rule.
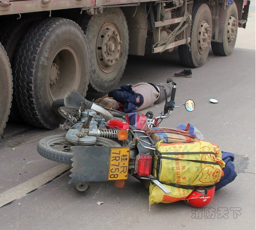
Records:
[[[52,102],[76,89],[86,95],[89,51],[75,22],[49,18],[35,23],[21,40],[14,66],[14,100],[30,125],[53,129],[60,118]]]

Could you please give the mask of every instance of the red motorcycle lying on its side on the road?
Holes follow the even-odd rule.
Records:
[[[181,158],[184,157],[184,153],[180,154],[181,158],[178,158],[178,154],[174,152],[168,153],[175,154],[170,155],[169,158],[162,156],[162,153],[159,152],[160,148],[156,148],[156,141],[150,137],[152,132],[159,132],[158,130],[155,131],[154,128],[159,126],[162,119],[169,117],[175,107],[185,105],[187,111],[194,110],[195,103],[193,100],[187,100],[184,104],[175,106],[175,91],[176,85],[174,83],[170,101],[168,102],[166,99],[164,112],[155,118],[153,118],[151,111],[147,112],[146,115],[140,112],[123,114],[112,109],[107,111],[102,106],[81,97],[77,91],[71,91],[66,94],[64,99],[58,99],[53,103],[54,111],[63,118],[66,117],[64,124],[60,125],[60,128],[67,130],[66,134],[47,136],[41,139],[38,142],[37,151],[46,159],[72,165],[70,175],[72,179],[69,183],[73,183],[78,191],[87,190],[89,182],[100,181],[115,181],[116,187],[123,188],[129,173],[142,181],[146,187],[151,186],[151,193],[156,186],[161,190],[161,193],[168,195],[173,193],[174,187],[178,193],[183,193],[182,199],[204,197],[205,201],[208,199],[208,202],[205,202],[207,204],[213,198],[213,185],[184,186],[182,183],[167,183],[164,179],[161,179],[160,182],[161,176],[159,175],[161,173],[156,172],[156,169],[159,169],[159,164],[164,165],[164,159],[174,160],[177,164],[178,159],[183,160]],[[113,115],[119,116],[121,119],[117,119]],[[168,129],[168,132],[170,130]],[[160,129],[160,131],[162,130]],[[187,131],[173,129],[172,132],[191,137]],[[161,143],[157,145],[159,147]],[[204,152],[205,154],[200,153],[199,155],[216,156],[214,151],[207,150]],[[196,159],[197,156],[195,160],[187,159],[187,161],[199,162],[200,164],[210,162],[214,167],[220,164],[214,162],[215,160],[211,162],[207,159],[201,161]],[[159,163],[161,161],[163,163]],[[221,172],[218,171],[217,173],[217,170],[219,168],[215,170],[215,173],[219,176]],[[200,187],[204,188],[200,190],[198,189]],[[175,192],[177,192],[176,190]],[[210,193],[212,197],[210,197]],[[186,197],[189,198],[186,199]],[[174,200],[178,201],[177,199]],[[164,202],[164,200],[160,202]],[[166,202],[173,202],[173,200],[167,199]]]

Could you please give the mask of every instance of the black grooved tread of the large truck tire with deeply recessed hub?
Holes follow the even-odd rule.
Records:
[[[71,26],[79,26],[64,18],[50,18],[40,20],[33,24],[26,33],[15,55],[14,65],[14,100],[23,119],[29,125],[39,128],[53,129],[56,125],[48,124],[40,115],[35,102],[35,65],[37,54],[43,45],[43,41],[53,28],[58,28],[60,23],[67,22]],[[85,47],[86,48],[86,47]],[[83,90],[86,94],[87,85]],[[57,116],[56,116],[57,117]]]

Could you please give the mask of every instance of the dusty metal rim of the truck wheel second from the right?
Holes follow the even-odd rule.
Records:
[[[211,28],[206,19],[203,19],[200,23],[198,30],[198,51],[200,54],[204,54],[204,51],[210,45],[211,42]]]

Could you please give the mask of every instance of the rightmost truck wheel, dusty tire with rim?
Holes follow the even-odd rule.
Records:
[[[236,3],[233,2],[233,4],[228,5],[224,13],[225,23],[222,42],[212,41],[211,43],[213,53],[219,56],[229,56],[232,54],[236,45],[238,30],[238,13]]]

